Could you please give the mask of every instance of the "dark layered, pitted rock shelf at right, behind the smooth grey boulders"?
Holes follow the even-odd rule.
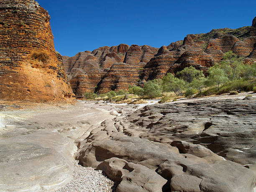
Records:
[[[122,129],[129,136],[170,143],[182,153],[193,146],[172,141],[201,144],[230,161],[256,164],[255,108],[255,100],[151,105],[129,115]]]

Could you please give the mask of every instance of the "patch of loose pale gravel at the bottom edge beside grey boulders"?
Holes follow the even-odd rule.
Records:
[[[74,160],[73,179],[56,192],[113,192],[118,183],[109,179],[101,170],[83,167]]]

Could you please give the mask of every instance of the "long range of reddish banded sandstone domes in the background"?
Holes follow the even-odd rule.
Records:
[[[189,34],[183,41],[161,48],[104,46],[73,57],[63,56],[63,62],[76,97],[83,97],[84,92],[127,89],[129,85],[140,85],[189,66],[205,71],[230,50],[251,64],[256,61],[255,31],[256,18],[252,26]]]

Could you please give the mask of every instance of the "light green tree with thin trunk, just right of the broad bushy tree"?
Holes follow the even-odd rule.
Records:
[[[220,85],[228,81],[227,75],[225,74],[223,69],[220,69],[217,65],[210,67],[207,72],[209,73],[209,76],[207,77],[207,81],[205,84],[207,84],[208,86],[218,85],[218,92],[220,92]]]

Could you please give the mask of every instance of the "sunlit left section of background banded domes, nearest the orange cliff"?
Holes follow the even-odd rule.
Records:
[[[76,97],[84,92],[128,89],[140,80],[141,71],[158,49],[151,46],[120,44],[92,52],[63,56],[64,67]]]

